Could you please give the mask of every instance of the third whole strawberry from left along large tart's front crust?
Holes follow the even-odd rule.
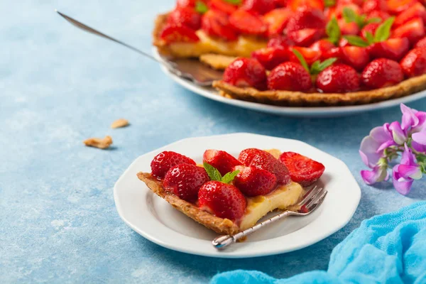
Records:
[[[316,85],[325,93],[355,92],[359,89],[359,76],[348,65],[332,65],[318,74]]]

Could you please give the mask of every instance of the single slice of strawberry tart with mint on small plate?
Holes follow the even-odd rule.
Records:
[[[236,234],[268,212],[297,207],[303,187],[322,173],[322,163],[298,153],[249,148],[235,158],[209,149],[202,165],[179,153],[159,153],[151,173],[138,178],[196,222],[219,234]]]

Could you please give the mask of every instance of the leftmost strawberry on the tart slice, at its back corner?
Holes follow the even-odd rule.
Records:
[[[195,161],[185,155],[172,151],[161,152],[151,161],[151,174],[155,178],[164,178],[170,168],[183,163],[195,165]]]

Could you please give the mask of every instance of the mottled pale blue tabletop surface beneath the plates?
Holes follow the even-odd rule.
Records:
[[[339,119],[229,107],[187,92],[155,63],[53,12],[150,50],[153,18],[173,0],[16,2],[0,2],[1,283],[205,283],[236,268],[284,278],[327,268],[334,246],[361,220],[426,197],[424,181],[403,197],[390,184],[368,187],[359,177],[361,138],[400,119],[397,107]],[[426,100],[410,107],[426,110]],[[110,129],[120,117],[131,126]],[[189,136],[239,131],[299,139],[344,160],[363,194],[351,222],[307,249],[241,260],[169,251],[121,222],[112,188],[138,155]],[[109,151],[82,145],[104,135],[114,138]]]

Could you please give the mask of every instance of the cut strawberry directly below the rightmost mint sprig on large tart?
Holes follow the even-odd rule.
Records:
[[[374,43],[369,49],[371,58],[388,58],[399,61],[408,53],[410,41],[407,38],[390,38]]]

